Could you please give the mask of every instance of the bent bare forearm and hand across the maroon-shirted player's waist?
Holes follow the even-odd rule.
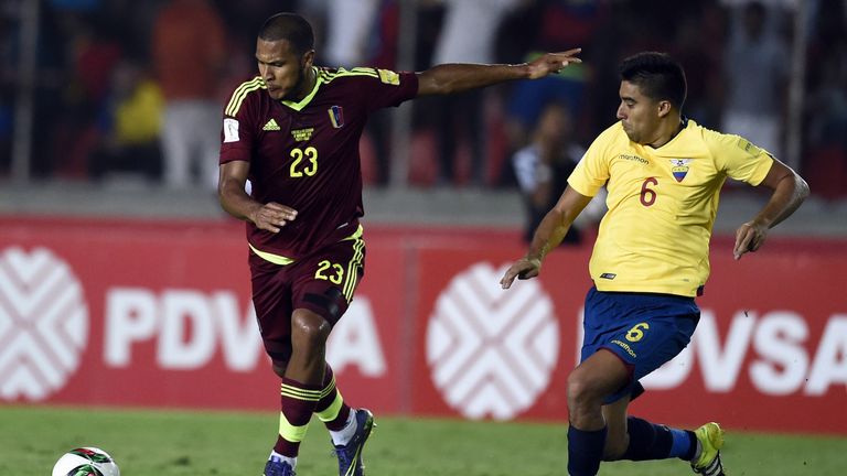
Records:
[[[297,218],[297,210],[274,202],[262,205],[247,195],[244,185],[249,170],[250,164],[244,161],[221,165],[217,182],[221,207],[238,219],[253,221],[260,229],[278,232],[286,223]]]

